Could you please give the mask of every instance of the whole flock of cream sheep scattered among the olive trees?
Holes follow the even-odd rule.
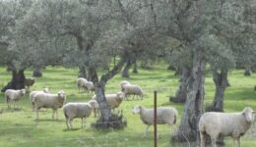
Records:
[[[34,83],[34,79],[29,84]],[[77,80],[77,86],[79,91],[81,89],[93,93],[95,90],[94,83],[88,81],[86,78],[79,77]],[[31,84],[32,83],[32,84]],[[27,84],[27,87],[30,87]],[[131,84],[128,81],[120,82],[121,91],[115,94],[105,94],[106,103],[109,109],[113,110],[118,108],[124,99],[128,100],[128,95],[141,97],[143,99],[144,92],[141,86]],[[25,89],[13,90],[8,89],[5,92],[5,98],[8,108],[11,107],[11,103],[19,101],[26,94]],[[59,91],[57,94],[52,94],[45,88],[41,91],[32,91],[30,94],[32,102],[32,110],[36,112],[36,120],[39,119],[38,113],[41,108],[50,108],[53,110],[52,119],[54,115],[57,119],[57,110],[63,107],[64,116],[66,119],[67,128],[72,128],[72,121],[75,118],[82,119],[82,127],[84,127],[84,121],[89,118],[92,112],[96,115],[100,115],[98,111],[98,104],[96,101],[96,95],[92,97],[89,102],[69,102],[64,105],[66,100],[66,94],[64,91]],[[140,114],[141,121],[146,124],[146,129],[143,137],[146,136],[150,125],[154,124],[154,109],[147,109],[142,106],[134,106],[132,109],[133,114]],[[217,139],[220,135],[231,136],[233,139],[233,146],[235,141],[240,146],[240,137],[250,128],[254,121],[254,114],[256,112],[247,107],[240,113],[217,113],[208,112],[201,116],[199,121],[199,132],[201,138],[201,147],[205,147],[206,134],[210,135],[212,145],[217,147]],[[173,107],[159,107],[157,111],[157,123],[158,124],[175,124],[177,122],[178,111]]]

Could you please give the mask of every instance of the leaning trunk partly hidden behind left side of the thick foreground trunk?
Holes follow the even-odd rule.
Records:
[[[178,90],[176,91],[175,97],[170,96],[170,100],[174,103],[185,103],[187,99],[187,87],[188,87],[188,79],[189,74],[191,73],[191,69],[189,67],[182,68],[182,74],[180,77],[180,85]]]

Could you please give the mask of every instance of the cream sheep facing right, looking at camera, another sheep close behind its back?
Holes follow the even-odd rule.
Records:
[[[61,90],[57,94],[39,92],[33,97],[32,103],[34,104],[34,109],[36,111],[36,120],[39,118],[38,112],[40,108],[51,108],[53,112],[52,119],[54,119],[54,114],[56,114],[56,119],[58,119],[58,108],[61,108],[66,100],[64,91]]]

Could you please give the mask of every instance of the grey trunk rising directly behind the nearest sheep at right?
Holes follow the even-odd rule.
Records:
[[[207,111],[224,112],[224,90],[228,83],[227,70],[222,70],[221,73],[217,69],[213,70],[213,79],[216,85],[215,98]]]

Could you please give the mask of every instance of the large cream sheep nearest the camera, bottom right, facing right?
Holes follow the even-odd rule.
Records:
[[[213,147],[217,147],[216,141],[219,135],[231,136],[233,147],[235,140],[240,147],[240,137],[250,128],[256,112],[246,107],[241,113],[217,113],[209,112],[202,115],[199,120],[199,132],[201,147],[205,147],[206,134],[210,135]]]

